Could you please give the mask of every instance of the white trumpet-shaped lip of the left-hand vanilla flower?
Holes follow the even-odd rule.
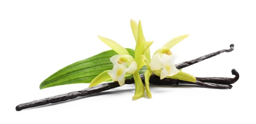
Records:
[[[126,72],[134,74],[134,72],[137,71],[137,63],[133,61],[128,67],[127,62],[120,60],[122,56],[123,55],[114,55],[110,58],[110,61],[113,63],[113,69],[108,72],[112,81],[118,81],[120,86],[124,84]]]

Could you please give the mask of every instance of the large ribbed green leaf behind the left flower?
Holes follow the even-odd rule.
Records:
[[[126,49],[134,57],[133,49]],[[113,68],[110,57],[117,53],[113,50],[70,64],[55,72],[40,84],[40,89],[73,83],[90,83],[98,74]],[[140,72],[145,72],[146,68]],[[126,77],[127,78],[127,77]]]

